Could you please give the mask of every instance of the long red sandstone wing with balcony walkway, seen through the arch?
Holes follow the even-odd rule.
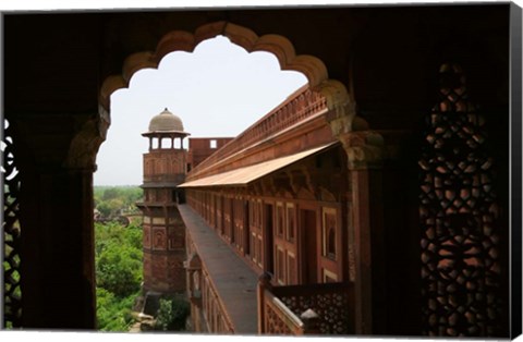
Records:
[[[195,331],[355,332],[348,160],[326,105],[304,86],[179,185]]]

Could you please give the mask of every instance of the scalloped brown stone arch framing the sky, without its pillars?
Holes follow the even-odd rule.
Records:
[[[199,26],[194,34],[185,30],[173,30],[166,34],[158,42],[156,51],[142,51],[129,56],[120,75],[107,77],[100,88],[100,111],[110,112],[110,96],[118,89],[129,87],[131,77],[142,69],[158,69],[161,59],[170,52],[193,52],[202,41],[216,36],[226,36],[231,42],[241,46],[247,52],[266,51],[276,56],[281,70],[297,71],[305,75],[313,91],[327,99],[328,108],[333,112],[330,119],[340,122],[338,131],[352,131],[354,106],[345,86],[336,80],[328,78],[324,62],[308,54],[295,54],[294,46],[283,36],[269,34],[258,37],[250,28],[229,22],[215,22]]]

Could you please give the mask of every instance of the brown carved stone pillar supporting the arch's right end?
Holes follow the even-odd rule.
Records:
[[[348,156],[352,188],[352,220],[349,218],[350,267],[354,272],[356,334],[379,333],[379,302],[382,301],[382,158],[384,139],[373,131],[338,136]]]

